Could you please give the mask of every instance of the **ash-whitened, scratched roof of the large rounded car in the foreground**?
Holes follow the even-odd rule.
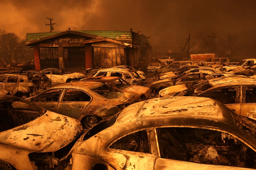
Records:
[[[204,109],[202,109],[204,108]],[[132,112],[131,112],[132,110]],[[116,123],[136,120],[168,120],[180,117],[215,120],[235,125],[227,107],[219,101],[202,97],[156,98],[142,101],[124,109]]]

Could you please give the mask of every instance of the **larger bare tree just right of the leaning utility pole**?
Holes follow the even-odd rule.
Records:
[[[195,37],[201,43],[201,47],[207,49],[209,53],[216,53],[217,47],[220,46],[215,29],[199,32]]]

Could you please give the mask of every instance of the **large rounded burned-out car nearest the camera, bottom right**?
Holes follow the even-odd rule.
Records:
[[[255,168],[254,126],[209,98],[142,101],[107,129],[84,134],[71,149],[72,170]]]

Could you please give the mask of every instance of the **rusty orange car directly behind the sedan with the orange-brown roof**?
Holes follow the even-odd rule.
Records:
[[[148,87],[140,85],[130,85],[128,82],[120,77],[91,77],[81,79],[80,81],[95,81],[110,85],[119,89],[122,92],[134,94],[136,101],[145,100],[150,95],[150,89]]]

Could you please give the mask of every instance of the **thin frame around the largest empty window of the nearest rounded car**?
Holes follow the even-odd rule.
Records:
[[[218,129],[217,127],[168,125],[168,126],[154,127],[154,133],[155,133],[155,139],[156,139],[156,150],[157,150],[157,155],[158,155],[159,158],[161,158],[161,155],[160,155],[160,149],[159,149],[158,138],[157,138],[157,128],[195,128],[195,129],[214,130],[214,131],[218,131],[218,132],[221,132],[221,133],[226,133],[226,134],[228,134],[228,135],[230,135],[232,137],[235,137],[236,139],[240,140],[243,144],[245,144],[247,147],[251,148],[254,152],[256,152],[256,148],[253,148],[253,146],[251,144],[247,143],[246,138],[242,139],[241,137],[236,136],[232,132],[225,131],[223,129]],[[248,134],[244,134],[244,135],[248,135]],[[166,159],[166,158],[161,158],[161,159]],[[166,160],[177,160],[177,159],[166,159]],[[231,168],[243,168],[243,169],[246,169],[245,167],[238,167],[238,166],[225,166],[225,165],[214,165],[214,164],[196,163],[196,162],[190,162],[190,161],[187,161],[187,160],[178,160],[178,161],[189,162],[189,163],[192,163],[192,164],[202,164],[202,165],[206,165],[206,166],[207,165],[209,165],[209,166],[224,166],[225,168],[231,167]]]

